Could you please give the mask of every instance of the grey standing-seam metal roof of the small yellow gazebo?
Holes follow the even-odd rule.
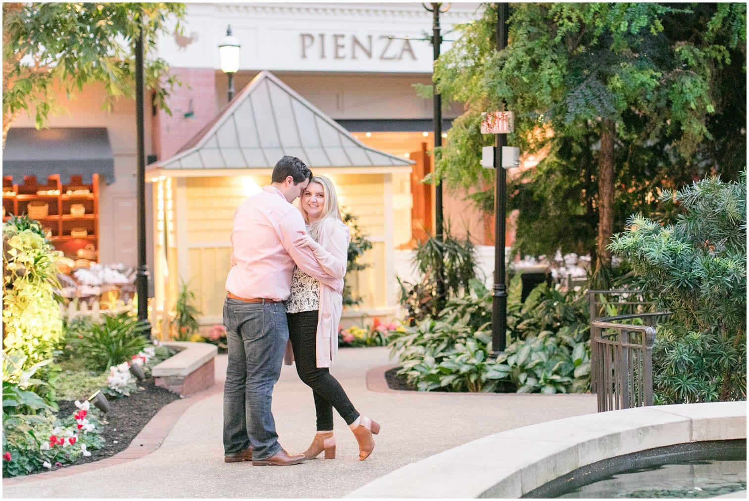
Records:
[[[268,71],[249,82],[174,157],[148,170],[272,168],[284,155],[316,167],[407,167],[369,148]]]

